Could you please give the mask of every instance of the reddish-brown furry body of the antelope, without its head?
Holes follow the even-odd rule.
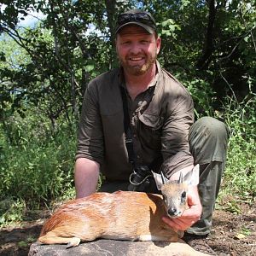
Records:
[[[161,195],[130,191],[95,193],[67,202],[46,221],[38,240],[43,243],[67,243],[73,237],[82,241],[99,237],[140,240],[141,235],[151,234],[177,241],[177,233],[161,219],[165,215]]]

